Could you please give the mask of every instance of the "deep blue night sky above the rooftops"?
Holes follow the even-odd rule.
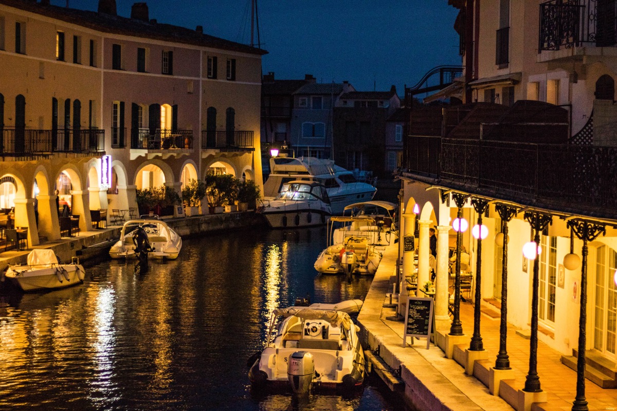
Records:
[[[96,10],[98,0],[51,0]],[[116,0],[130,17],[133,0]],[[447,0],[258,0],[263,73],[277,79],[312,74],[320,83],[349,81],[358,91],[399,96],[437,65],[460,65],[457,10]],[[251,43],[251,0],[147,0],[150,18],[238,43]],[[254,36],[257,43],[257,35]],[[418,96],[423,97],[423,96]]]

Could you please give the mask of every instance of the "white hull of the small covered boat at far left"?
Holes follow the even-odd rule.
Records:
[[[10,268],[6,278],[23,291],[53,290],[71,287],[83,282],[85,271],[80,264],[63,264],[47,269],[20,271],[19,266]]]

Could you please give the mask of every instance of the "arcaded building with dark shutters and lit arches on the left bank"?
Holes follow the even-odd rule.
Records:
[[[114,0],[0,1],[1,208],[36,245],[60,238],[57,196],[89,230],[89,210],[136,208],[137,189],[180,193],[209,170],[262,184],[263,54],[145,3],[125,18]]]

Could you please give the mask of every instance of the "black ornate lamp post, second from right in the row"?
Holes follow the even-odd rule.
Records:
[[[534,232],[534,243],[536,243],[536,253],[534,258],[534,274],[532,279],[531,290],[531,336],[529,338],[529,372],[525,377],[525,386],[523,391],[527,393],[539,393],[542,391],[540,388],[540,377],[537,373],[537,351],[538,351],[538,288],[539,288],[539,261],[537,254],[539,254],[540,246],[540,232],[544,231],[546,227],[553,221],[553,216],[550,214],[543,214],[540,211],[525,211],[523,218],[529,222]]]

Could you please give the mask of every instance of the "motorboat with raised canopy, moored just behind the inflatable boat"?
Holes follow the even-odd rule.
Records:
[[[390,245],[398,238],[394,224],[396,208],[389,201],[363,201],[346,206],[343,216],[330,220],[332,242],[342,243],[346,237],[355,236],[367,238],[371,245]]]

